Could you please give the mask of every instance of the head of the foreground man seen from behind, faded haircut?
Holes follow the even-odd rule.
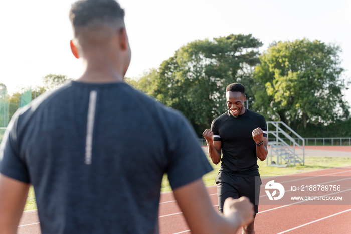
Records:
[[[111,63],[110,69],[117,69],[120,76],[124,76],[131,53],[124,10],[120,5],[115,0],[79,0],[72,5],[69,18],[74,31],[74,39],[71,40],[74,56],[84,58],[88,67],[93,64],[89,69]],[[100,65],[97,66],[97,63]],[[99,72],[105,72],[105,75],[116,72],[106,68],[99,69]]]

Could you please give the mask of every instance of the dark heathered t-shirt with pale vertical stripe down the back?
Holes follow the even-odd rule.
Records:
[[[157,233],[161,180],[212,170],[188,121],[125,83],[70,82],[19,109],[0,172],[34,186],[43,233]]]

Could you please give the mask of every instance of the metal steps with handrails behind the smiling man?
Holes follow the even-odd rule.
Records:
[[[270,146],[267,165],[295,166],[296,163],[305,164],[305,140],[288,125],[282,121],[267,121],[267,135],[268,146]],[[299,144],[300,141],[295,140],[296,138],[302,141],[302,146]],[[289,144],[287,141],[289,141]],[[273,157],[276,157],[276,159],[273,159]]]

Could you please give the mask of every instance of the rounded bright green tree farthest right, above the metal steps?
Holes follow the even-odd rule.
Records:
[[[348,118],[340,51],[338,46],[305,38],[270,45],[254,73],[255,108],[295,129]]]

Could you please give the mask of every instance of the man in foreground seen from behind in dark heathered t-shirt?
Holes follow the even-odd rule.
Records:
[[[232,233],[252,220],[246,198],[213,209],[212,170],[178,111],[123,82],[130,62],[114,0],[73,5],[71,49],[85,73],[14,115],[0,146],[0,232],[15,233],[33,185],[43,233],[157,233],[167,173],[193,233]],[[196,165],[196,166],[194,166]]]

